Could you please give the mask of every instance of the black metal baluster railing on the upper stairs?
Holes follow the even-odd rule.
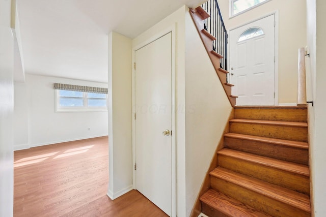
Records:
[[[213,50],[221,54],[224,58],[221,59],[221,68],[227,69],[227,45],[228,45],[228,33],[224,25],[222,14],[220,11],[217,0],[209,0],[201,6],[209,15],[205,19],[205,29],[213,35],[216,40],[213,41]]]

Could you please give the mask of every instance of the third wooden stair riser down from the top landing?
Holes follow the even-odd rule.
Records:
[[[265,142],[225,137],[225,146],[260,156],[308,165],[308,149],[275,145]]]

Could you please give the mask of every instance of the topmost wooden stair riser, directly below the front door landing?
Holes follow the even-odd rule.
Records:
[[[235,108],[235,118],[307,122],[306,108]]]

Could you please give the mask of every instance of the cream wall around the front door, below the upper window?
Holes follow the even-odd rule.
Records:
[[[229,19],[229,0],[218,0],[227,29],[279,12],[279,103],[296,102],[297,49],[306,46],[306,1],[273,0]]]

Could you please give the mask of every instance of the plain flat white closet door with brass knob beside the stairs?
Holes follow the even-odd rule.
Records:
[[[135,51],[136,189],[172,215],[172,34]],[[170,135],[163,135],[164,131]],[[167,132],[168,133],[168,132]]]

